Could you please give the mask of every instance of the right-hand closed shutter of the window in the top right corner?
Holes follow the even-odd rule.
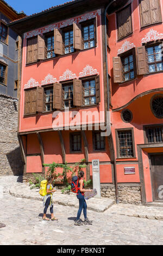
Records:
[[[160,8],[160,0],[150,0],[150,9],[151,9],[151,22],[152,24],[161,22],[161,8]]]

